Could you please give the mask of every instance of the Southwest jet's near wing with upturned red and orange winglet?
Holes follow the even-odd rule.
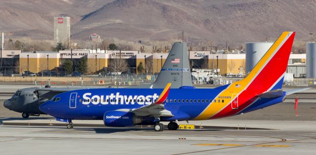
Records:
[[[167,86],[163,89],[162,93],[159,95],[155,103],[146,105],[137,109],[132,109],[130,112],[134,113],[137,116],[166,116],[173,117],[170,111],[164,109],[164,103],[168,96],[171,83],[168,83]]]

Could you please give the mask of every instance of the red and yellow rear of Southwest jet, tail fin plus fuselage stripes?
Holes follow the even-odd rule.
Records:
[[[243,80],[229,85],[214,99],[221,104],[210,103],[195,120],[232,116],[251,105],[259,94],[280,89],[291,53],[295,32],[283,32],[262,59]],[[223,97],[227,99],[223,99]],[[233,101],[237,99],[237,107]]]

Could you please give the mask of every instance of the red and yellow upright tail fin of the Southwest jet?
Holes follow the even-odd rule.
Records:
[[[255,85],[251,89],[256,90],[281,89],[294,36],[295,32],[283,32],[247,77],[237,83],[246,88]]]

